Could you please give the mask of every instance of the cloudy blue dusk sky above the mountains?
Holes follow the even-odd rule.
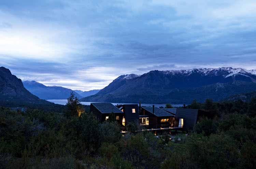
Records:
[[[256,68],[255,0],[1,0],[0,66],[102,89],[122,74]]]

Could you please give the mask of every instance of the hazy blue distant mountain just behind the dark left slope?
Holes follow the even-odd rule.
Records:
[[[75,91],[59,86],[45,86],[37,81],[23,81],[24,87],[32,94],[41,99],[67,99],[70,93],[73,92],[77,98],[82,98],[81,95]]]

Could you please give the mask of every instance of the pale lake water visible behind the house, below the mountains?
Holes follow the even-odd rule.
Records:
[[[62,100],[47,100],[49,102],[53,102],[55,104],[60,104],[60,105],[66,105],[67,103],[67,99],[62,99]],[[95,102],[81,102],[81,104],[83,105],[90,105],[91,103],[95,103]],[[113,105],[122,105],[122,104],[136,104],[136,103],[112,103]],[[138,104],[139,105],[139,104]],[[153,104],[141,104],[141,106],[152,106]],[[165,104],[154,104],[155,107],[165,107]],[[182,107],[183,104],[171,104],[173,107]]]

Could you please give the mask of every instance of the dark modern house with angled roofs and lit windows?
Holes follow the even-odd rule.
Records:
[[[118,107],[111,103],[91,103],[93,112],[100,122],[108,120],[114,113],[116,121],[125,130],[131,122],[139,123],[146,130],[193,129],[198,121],[198,109],[139,107],[137,104],[124,104]]]

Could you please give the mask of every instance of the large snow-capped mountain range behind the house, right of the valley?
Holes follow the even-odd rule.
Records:
[[[189,104],[256,90],[256,70],[221,67],[121,75],[85,102]]]

